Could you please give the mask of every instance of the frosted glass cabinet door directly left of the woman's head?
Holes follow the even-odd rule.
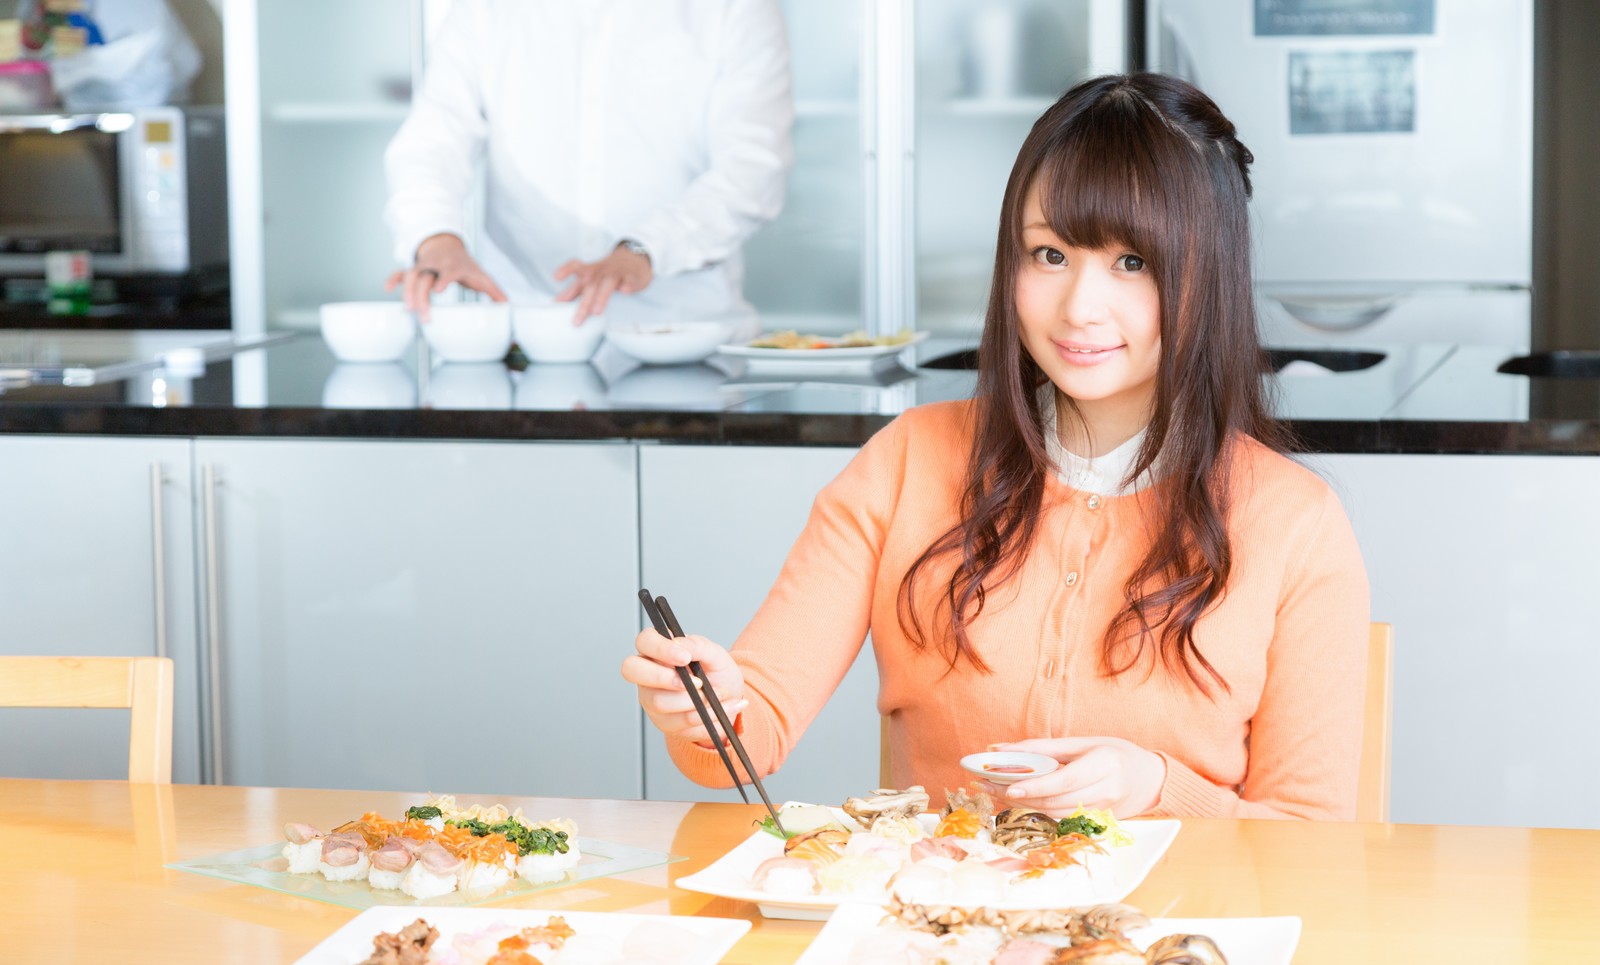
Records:
[[[915,326],[976,336],[1016,152],[1067,88],[1125,69],[1125,5],[917,0],[914,8]]]

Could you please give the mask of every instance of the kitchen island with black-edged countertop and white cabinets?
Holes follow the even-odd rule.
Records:
[[[34,338],[34,357],[78,350]],[[198,373],[13,387],[0,531],[26,549],[0,562],[8,648],[178,659],[179,779],[730,800],[642,736],[616,675],[634,594],[664,592],[686,629],[731,642],[853,450],[910,405],[971,392],[970,371],[920,365],[962,347],[786,379],[434,366],[421,342],[405,363],[352,366],[299,336]],[[1278,411],[1346,503],[1373,618],[1397,629],[1394,818],[1600,827],[1600,775],[1573,767],[1600,731],[1600,461],[1582,458],[1600,454],[1600,406],[1496,373],[1509,354],[1389,347],[1352,371],[1304,354],[1285,360]],[[306,671],[326,664],[410,672],[370,693]],[[558,685],[482,701],[440,695],[434,667]],[[773,792],[870,784],[874,695],[864,648]],[[518,768],[448,728],[355,762],[315,752],[330,727],[389,744],[394,712],[430,703],[474,733],[597,720],[603,754],[554,743]],[[62,715],[0,749],[0,773],[117,773],[64,754],[107,746],[83,727],[101,725]]]

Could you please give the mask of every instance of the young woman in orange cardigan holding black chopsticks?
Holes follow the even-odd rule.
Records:
[[[973,400],[914,408],[818,496],[733,651],[645,631],[622,675],[726,786],[674,666],[776,770],[870,631],[894,783],[1043,752],[1051,813],[1355,813],[1366,575],[1261,381],[1250,152],[1195,88],[1101,77],[1022,144]]]

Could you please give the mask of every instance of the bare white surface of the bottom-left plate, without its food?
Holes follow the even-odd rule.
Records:
[[[493,925],[530,928],[544,925],[550,915],[566,919],[578,938],[603,939],[600,954],[584,957],[597,965],[659,962],[662,965],[715,965],[739,938],[750,930],[749,922],[733,919],[696,919],[669,915],[626,915],[616,912],[566,912],[520,907],[370,907],[344,923],[306,952],[296,965],[354,965],[373,954],[373,938],[382,931],[398,931],[418,919],[438,928],[434,952],[448,949],[450,941],[466,931]],[[578,941],[578,938],[571,941]],[[614,957],[606,952],[614,949]],[[560,957],[555,959],[560,963]]]

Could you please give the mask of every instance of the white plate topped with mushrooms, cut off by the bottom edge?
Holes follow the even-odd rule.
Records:
[[[1138,909],[1120,904],[1035,912],[1026,919],[963,909],[962,917],[974,925],[947,928],[928,922],[920,909],[842,904],[795,965],[923,960],[1045,965],[1058,960],[1056,954],[1067,944],[1096,944],[1101,957],[1085,957],[1085,962],[1290,965],[1301,933],[1298,917],[1146,919]],[[1099,943],[1091,943],[1088,931],[1099,935]]]

